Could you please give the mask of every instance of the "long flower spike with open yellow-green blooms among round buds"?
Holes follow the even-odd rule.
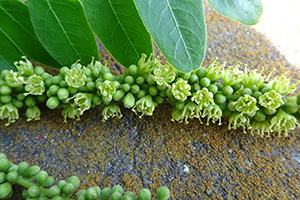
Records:
[[[120,104],[143,117],[153,115],[168,99],[174,106],[172,121],[180,123],[194,118],[202,123],[207,118],[207,124],[211,120],[221,125],[222,117],[229,117],[228,129],[241,127],[260,136],[271,132],[287,136],[299,126],[300,96],[284,97],[299,82],[290,84],[284,75],[269,80],[262,71],[247,66],[240,70],[240,63],[225,67],[215,60],[207,69],[182,73],[142,55],[137,65],[118,77],[98,61],[86,67],[76,62],[56,76],[33,68],[26,58],[16,66],[17,72],[3,70],[0,77],[0,119],[8,119],[6,125],[19,118],[21,107],[27,108],[28,121],[40,119],[38,105],[43,102],[50,109],[61,108],[65,121],[79,120],[86,110],[100,106],[105,121],[122,117]]]

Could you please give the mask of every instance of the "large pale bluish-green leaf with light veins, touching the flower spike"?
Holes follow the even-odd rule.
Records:
[[[198,69],[205,55],[202,0],[134,0],[137,10],[166,59],[178,70]]]

